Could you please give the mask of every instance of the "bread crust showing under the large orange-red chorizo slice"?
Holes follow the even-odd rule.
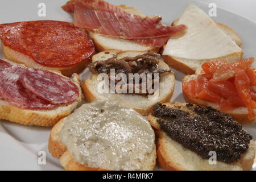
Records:
[[[37,68],[37,69],[45,69],[52,72],[61,72],[64,76],[71,76],[73,73],[80,73],[84,71],[86,66],[90,63],[90,61],[81,61],[79,64],[73,65],[72,67],[67,68],[53,68],[53,67],[45,67],[36,61],[32,60],[30,56],[25,55],[19,51],[16,51],[10,47],[3,45],[2,43],[3,54],[5,55],[6,59],[14,61],[18,64],[24,64],[28,68]]]

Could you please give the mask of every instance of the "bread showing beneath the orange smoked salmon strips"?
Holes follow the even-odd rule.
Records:
[[[198,76],[199,75],[187,75],[183,78],[182,82],[196,80]],[[202,105],[202,106],[210,106],[213,109],[217,109],[218,107],[220,107],[219,105],[214,104],[213,102],[203,100],[201,98],[193,98],[191,96],[188,96],[187,94],[185,94],[185,92],[183,92],[183,96],[186,102],[192,102],[193,104]],[[237,122],[241,124],[250,124],[252,122],[255,122],[256,120],[256,116],[254,118],[254,121],[250,121],[247,118],[248,110],[246,107],[237,107],[236,109],[225,110],[222,112],[230,114]],[[256,108],[254,108],[254,114],[256,115]]]

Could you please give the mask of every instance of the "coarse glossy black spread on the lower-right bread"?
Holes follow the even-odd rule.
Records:
[[[193,104],[186,107],[188,111],[158,103],[152,115],[158,118],[161,129],[169,137],[204,159],[209,159],[210,151],[215,151],[217,160],[226,163],[241,158],[252,137],[239,123],[212,107]]]

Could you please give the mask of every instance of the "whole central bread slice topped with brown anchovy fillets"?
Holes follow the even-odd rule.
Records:
[[[97,53],[88,66],[93,74],[82,85],[86,100],[113,100],[149,114],[154,104],[169,101],[174,92],[174,73],[159,59],[154,52]]]

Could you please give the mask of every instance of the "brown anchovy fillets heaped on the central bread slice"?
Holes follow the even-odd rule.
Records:
[[[162,74],[165,72],[171,72],[170,70],[165,69],[159,69],[159,57],[160,55],[155,52],[147,52],[143,55],[138,55],[135,57],[124,57],[122,59],[118,59],[116,56],[111,57],[108,60],[105,61],[95,61],[93,63],[90,63],[88,65],[88,68],[90,72],[93,74],[100,74],[100,73],[106,73],[109,75],[109,78],[112,79],[110,76],[111,69],[115,69],[115,77],[118,73],[123,73],[126,75],[126,83],[133,84],[133,87],[137,90],[139,89],[139,94],[148,95],[150,93],[142,93],[142,85],[146,84],[147,88],[151,86],[154,87],[155,82],[157,81],[154,77],[154,74]],[[129,80],[129,74],[135,74],[138,73],[138,75],[141,75],[144,73],[146,76],[151,73],[152,78],[151,82],[148,83],[148,80],[143,80],[142,78],[139,78],[139,82],[135,83],[134,79]],[[117,84],[120,80],[115,79],[114,83]],[[110,82],[109,82],[110,83]],[[148,85],[151,84],[151,85]],[[129,86],[126,86],[128,89]],[[135,89],[134,89],[135,90]],[[129,92],[126,92],[129,93]],[[152,93],[151,93],[152,94]]]

